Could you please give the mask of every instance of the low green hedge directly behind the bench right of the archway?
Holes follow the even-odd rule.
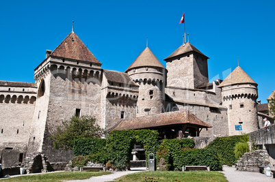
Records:
[[[222,170],[215,149],[179,150],[173,158],[176,170],[181,170],[183,166],[209,166],[211,170]]]

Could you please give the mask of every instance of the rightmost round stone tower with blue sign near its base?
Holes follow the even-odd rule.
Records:
[[[257,83],[238,66],[218,87],[222,89],[222,105],[228,109],[229,135],[258,130]]]

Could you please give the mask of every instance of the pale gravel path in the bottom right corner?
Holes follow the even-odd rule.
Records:
[[[226,167],[224,166],[222,173],[224,173],[224,176],[229,182],[257,182],[257,181],[273,181],[275,182],[275,179],[273,177],[267,177],[265,174],[261,174],[260,172],[247,172],[247,171],[237,171],[236,168],[232,167]]]

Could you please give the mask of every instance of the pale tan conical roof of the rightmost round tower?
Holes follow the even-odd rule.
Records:
[[[242,84],[242,83],[252,83],[256,84],[244,70],[241,69],[241,67],[236,67],[231,74],[229,74],[218,87],[224,87],[226,85],[236,85],[236,84]]]

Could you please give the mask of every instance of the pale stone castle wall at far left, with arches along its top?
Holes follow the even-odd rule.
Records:
[[[0,86],[0,151],[8,147],[25,154],[35,106],[36,87]]]

